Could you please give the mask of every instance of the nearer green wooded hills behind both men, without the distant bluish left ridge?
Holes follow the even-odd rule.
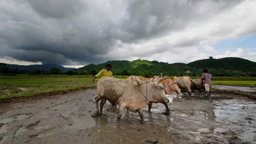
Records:
[[[256,62],[249,61],[242,58],[221,58],[221,59],[201,59],[190,62],[189,64],[174,63],[168,64],[158,61],[147,61],[137,59],[134,61],[107,61],[102,64],[89,64],[81,70],[96,71],[110,63],[112,65],[111,71],[114,75],[140,75],[145,77],[152,77],[154,75],[168,76],[201,76],[204,68],[209,70],[213,76],[255,76]],[[187,73],[189,72],[190,73]]]

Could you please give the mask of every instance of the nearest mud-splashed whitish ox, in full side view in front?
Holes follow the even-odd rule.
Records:
[[[142,108],[146,107],[147,101],[162,103],[169,101],[164,91],[165,88],[160,83],[164,79],[167,79],[167,77],[147,83],[137,81],[136,76],[130,76],[125,80],[102,77],[97,83],[96,111],[92,116],[100,116],[103,105],[108,100],[111,104],[119,104],[117,120],[120,120],[123,109],[127,107],[131,110],[138,110],[141,123],[144,123]],[[99,113],[98,102],[100,99],[102,100]]]

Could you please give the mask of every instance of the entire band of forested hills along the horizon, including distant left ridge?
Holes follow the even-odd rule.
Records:
[[[198,61],[168,64],[166,62],[148,61],[137,59],[134,61],[107,61],[102,64],[89,64],[79,69],[65,68],[61,65],[10,65],[0,63],[0,73],[14,74],[68,74],[68,75],[95,75],[111,64],[113,75],[123,76],[144,76],[154,75],[164,76],[201,76],[204,68],[209,70],[213,76],[236,76],[236,77],[256,77],[256,62],[242,58],[221,58],[221,59],[201,59]]]

